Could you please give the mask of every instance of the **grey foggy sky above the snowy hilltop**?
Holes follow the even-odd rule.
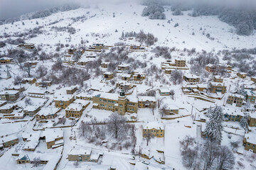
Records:
[[[143,0],[132,0],[143,1]],[[45,8],[53,8],[65,4],[78,4],[88,6],[100,4],[102,2],[108,4],[117,4],[123,2],[132,2],[131,0],[0,0],[0,20],[21,16],[24,13],[43,10]],[[221,6],[236,6],[250,7],[256,10],[256,0],[163,0],[163,1],[178,1],[183,4],[218,4]]]

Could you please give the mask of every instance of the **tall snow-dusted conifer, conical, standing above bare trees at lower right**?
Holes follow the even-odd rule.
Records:
[[[216,106],[210,114],[210,120],[206,123],[204,135],[210,140],[221,142],[223,131],[223,111],[220,106]]]

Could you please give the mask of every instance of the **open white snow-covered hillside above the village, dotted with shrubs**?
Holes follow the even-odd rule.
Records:
[[[166,6],[166,20],[150,20],[141,16],[143,8],[144,6],[138,4],[101,4],[97,8],[78,8],[73,11],[55,13],[46,18],[18,21],[14,25],[2,25],[0,26],[0,32],[12,35],[15,32],[22,33],[26,29],[43,26],[41,29],[45,30],[43,34],[38,35],[36,38],[30,38],[26,42],[49,45],[54,45],[58,42],[67,42],[75,45],[80,43],[82,39],[88,40],[87,45],[90,45],[98,39],[99,42],[114,45],[115,42],[119,41],[122,31],[135,31],[138,33],[139,30],[144,30],[153,33],[159,38],[157,45],[166,45],[180,49],[191,49],[195,47],[198,51],[210,51],[213,49],[232,49],[233,47],[255,47],[256,35],[236,35],[233,33],[233,26],[228,26],[227,23],[221,22],[217,16],[200,16],[194,18],[187,15],[190,11],[184,12],[183,16],[173,16],[170,7]],[[113,17],[113,13],[115,17]],[[74,22],[70,19],[78,16],[85,16],[87,20],[82,21],[81,19],[80,21]],[[171,23],[167,23],[171,19]],[[38,21],[38,25],[36,25],[36,21]],[[49,23],[54,21],[60,22],[49,26]],[[178,23],[178,27],[174,27],[175,23]],[[51,29],[52,26],[70,26],[75,28],[76,33],[70,35],[65,32],[55,32],[54,29]],[[99,35],[96,37],[92,33]],[[192,35],[192,33],[195,35]],[[207,33],[214,40],[207,38]]]

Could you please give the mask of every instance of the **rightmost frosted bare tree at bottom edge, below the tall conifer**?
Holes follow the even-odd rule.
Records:
[[[217,157],[217,169],[233,169],[235,164],[234,154],[227,146],[221,146]]]

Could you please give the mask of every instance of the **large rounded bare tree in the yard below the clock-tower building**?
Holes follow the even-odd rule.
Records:
[[[110,132],[110,135],[114,136],[116,139],[117,137],[127,135],[126,118],[119,115],[119,113],[112,113],[107,123],[107,130]]]

